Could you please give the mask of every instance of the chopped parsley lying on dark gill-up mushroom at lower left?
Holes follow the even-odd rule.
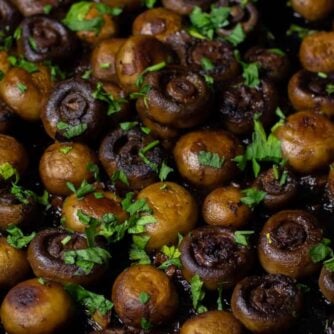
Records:
[[[110,253],[101,247],[89,247],[64,252],[64,262],[78,266],[85,274],[89,274],[96,264],[106,264],[110,258]],[[80,274],[80,271],[77,274]]]

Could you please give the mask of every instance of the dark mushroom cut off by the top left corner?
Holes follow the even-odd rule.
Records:
[[[0,1],[0,42],[3,43],[6,36],[10,36],[20,22],[21,15],[9,0]]]

